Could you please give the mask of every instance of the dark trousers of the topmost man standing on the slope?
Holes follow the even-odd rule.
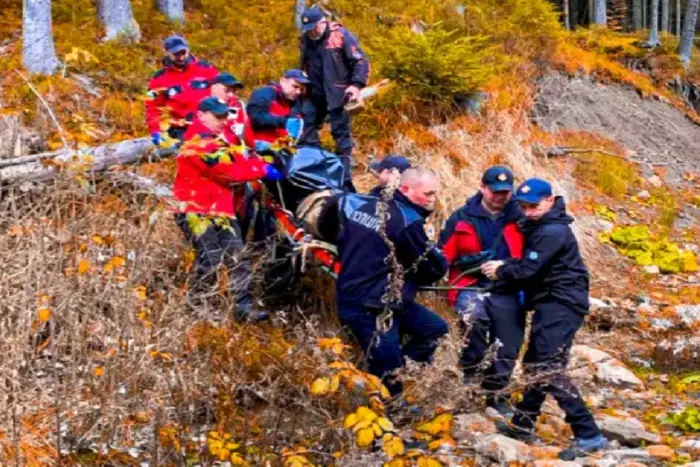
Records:
[[[318,132],[323,127],[326,117],[331,124],[331,135],[335,141],[335,153],[343,161],[345,167],[345,178],[350,179],[352,161],[352,134],[350,124],[350,114],[344,107],[339,109],[328,109],[325,99],[314,97],[306,99],[302,107],[304,116],[304,132],[299,139],[299,144],[304,146],[321,147],[321,139]]]

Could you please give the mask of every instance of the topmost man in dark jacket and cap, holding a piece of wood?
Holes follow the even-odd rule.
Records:
[[[357,39],[340,24],[329,22],[320,8],[307,9],[301,21],[301,68],[311,80],[301,143],[320,147],[318,132],[329,117],[336,153],[343,157],[349,179],[353,143],[345,104],[360,101],[369,62]]]

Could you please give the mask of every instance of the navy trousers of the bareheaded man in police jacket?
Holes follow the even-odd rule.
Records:
[[[388,332],[377,331],[379,309],[362,306],[338,305],[343,326],[350,328],[365,352],[369,372],[381,378],[389,392],[401,393],[401,383],[391,373],[404,365],[404,359],[416,362],[430,361],[442,336],[447,334],[447,323],[437,314],[415,302],[394,311],[393,325]],[[402,339],[408,341],[402,346]]]

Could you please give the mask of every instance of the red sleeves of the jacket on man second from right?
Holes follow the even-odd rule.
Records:
[[[447,262],[450,264],[449,283],[454,287],[470,287],[481,278],[479,274],[473,274],[462,276],[455,281],[462,273],[462,268],[456,264],[457,260],[462,256],[476,255],[483,251],[483,242],[479,237],[473,213],[470,212],[470,207],[480,202],[481,194],[468,200],[465,206],[450,216],[445,224],[445,228],[440,233],[440,247],[447,258]],[[505,212],[503,242],[508,247],[510,258],[521,259],[523,257],[525,239],[517,224],[520,214],[513,212],[514,209],[514,204],[506,207],[506,211],[510,212]],[[456,303],[458,295],[459,290],[450,290],[447,293],[450,305]]]

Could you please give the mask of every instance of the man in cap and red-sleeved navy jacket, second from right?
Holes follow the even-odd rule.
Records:
[[[489,391],[487,405],[501,413],[510,412],[509,396],[499,391],[508,385],[518,358],[525,312],[517,287],[489,280],[479,266],[490,259],[522,257],[523,235],[517,225],[521,213],[510,200],[512,190],[513,173],[507,167],[489,168],[480,191],[449,218],[440,234],[440,247],[450,263],[450,285],[457,289],[449,292],[449,302],[471,325],[460,362],[465,379],[475,376],[489,346],[499,341],[482,387]]]

